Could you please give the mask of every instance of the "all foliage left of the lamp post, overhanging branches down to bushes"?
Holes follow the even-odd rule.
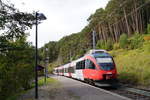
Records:
[[[25,31],[34,16],[19,12],[11,5],[0,11],[0,100],[30,88],[34,76],[34,48],[26,42]]]

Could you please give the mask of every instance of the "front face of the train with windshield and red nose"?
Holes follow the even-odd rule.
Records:
[[[98,79],[95,82],[114,85],[117,84],[117,69],[115,62],[110,54],[94,53],[96,67],[98,69]]]

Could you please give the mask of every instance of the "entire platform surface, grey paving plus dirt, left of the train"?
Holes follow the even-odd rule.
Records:
[[[50,77],[59,82],[39,87],[38,100],[127,100],[70,78]],[[34,89],[29,90],[18,100],[36,100],[34,93]]]

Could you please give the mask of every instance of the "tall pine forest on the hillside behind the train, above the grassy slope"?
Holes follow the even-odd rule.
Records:
[[[49,49],[49,63],[56,62],[58,65],[83,56],[86,51],[92,49],[93,30],[96,31],[97,48],[107,50],[117,46],[119,48],[121,36],[126,38],[137,34],[139,36],[148,34],[149,10],[149,0],[110,0],[105,9],[99,8],[89,16],[87,19],[89,24],[81,32],[72,33],[59,41],[50,41],[40,48],[40,59],[42,61],[45,57],[45,48]],[[130,42],[131,45],[126,48],[136,48],[132,46],[133,41]],[[122,44],[120,44],[121,47],[123,47]]]

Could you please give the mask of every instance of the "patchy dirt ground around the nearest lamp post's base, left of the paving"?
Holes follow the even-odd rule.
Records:
[[[25,94],[21,95],[18,100],[36,100],[34,99],[35,91],[31,89]],[[38,100],[80,100],[70,91],[63,89],[61,84],[49,84],[39,87]]]

